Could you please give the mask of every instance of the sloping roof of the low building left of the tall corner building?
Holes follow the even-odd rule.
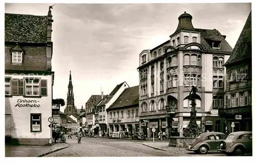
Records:
[[[139,106],[139,86],[126,88],[107,110],[133,105]]]

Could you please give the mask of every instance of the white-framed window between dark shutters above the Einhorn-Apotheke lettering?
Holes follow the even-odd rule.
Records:
[[[39,96],[39,79],[26,79],[26,95]]]

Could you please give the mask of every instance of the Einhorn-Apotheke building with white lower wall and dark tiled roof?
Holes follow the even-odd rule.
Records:
[[[5,129],[12,143],[51,143],[52,22],[50,9],[47,16],[5,14]]]

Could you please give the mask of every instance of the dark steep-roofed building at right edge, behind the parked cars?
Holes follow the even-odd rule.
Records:
[[[226,94],[220,115],[226,118],[226,133],[252,130],[251,13],[234,46],[226,67]],[[231,124],[234,123],[232,129]]]

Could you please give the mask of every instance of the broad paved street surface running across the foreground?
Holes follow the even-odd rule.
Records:
[[[184,148],[166,147],[167,151],[156,150],[142,145],[152,144],[151,141],[132,141],[120,139],[82,138],[81,144],[77,138],[67,139],[69,148],[51,153],[46,157],[146,157],[146,156],[224,156],[223,153],[212,153],[205,155],[194,154]],[[157,144],[157,143],[155,143]],[[166,144],[166,143],[158,143]]]

